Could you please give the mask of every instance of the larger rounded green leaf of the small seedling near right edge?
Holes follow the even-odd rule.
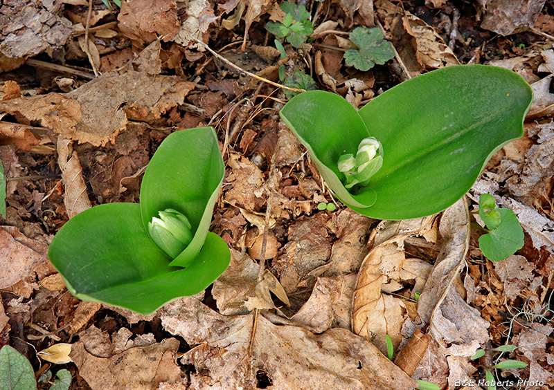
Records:
[[[509,209],[496,209],[500,215],[497,228],[479,237],[479,248],[487,259],[501,261],[524,246],[524,230]]]

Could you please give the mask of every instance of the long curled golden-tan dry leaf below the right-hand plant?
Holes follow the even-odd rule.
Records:
[[[400,271],[405,261],[404,240],[425,234],[433,227],[434,216],[407,221],[382,221],[375,228],[373,249],[358,273],[352,300],[352,330],[386,353],[386,335],[396,347],[407,308],[402,299],[383,294],[400,289]],[[388,286],[387,286],[388,285]]]

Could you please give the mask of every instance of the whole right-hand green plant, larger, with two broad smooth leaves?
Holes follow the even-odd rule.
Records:
[[[359,111],[339,95],[307,91],[280,116],[343,203],[371,218],[402,220],[458,201],[492,154],[523,136],[532,100],[516,73],[463,65],[414,77]],[[382,156],[382,166],[366,178],[367,165],[360,169],[365,162],[356,161],[359,183],[351,185],[339,161],[357,155],[367,138],[379,142],[375,156]]]

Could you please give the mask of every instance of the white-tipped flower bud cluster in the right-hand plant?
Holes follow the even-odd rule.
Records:
[[[361,140],[356,157],[353,154],[343,154],[339,157],[337,166],[344,176],[344,187],[350,189],[355,185],[368,185],[369,179],[383,165],[382,145],[373,137]]]

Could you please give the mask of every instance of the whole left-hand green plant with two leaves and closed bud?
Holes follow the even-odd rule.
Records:
[[[148,314],[208,287],[231,256],[208,232],[224,171],[213,128],[170,134],[148,164],[140,204],[92,207],[55,235],[48,257],[69,291]]]

